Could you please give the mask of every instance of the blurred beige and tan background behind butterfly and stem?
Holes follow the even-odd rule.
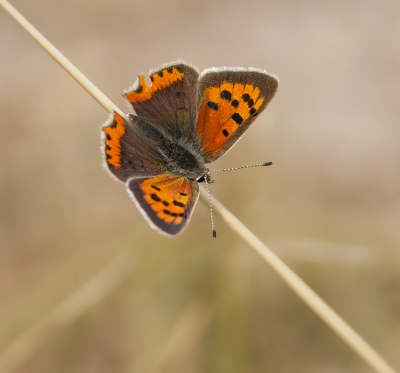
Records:
[[[274,165],[212,193],[400,369],[400,2],[12,4],[125,111],[178,58],[278,75],[211,168]],[[102,168],[108,113],[2,9],[0,48],[2,372],[371,372],[207,205],[153,231]]]

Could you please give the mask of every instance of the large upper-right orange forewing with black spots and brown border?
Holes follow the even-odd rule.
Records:
[[[259,69],[211,68],[197,91],[196,141],[206,163],[226,153],[272,100],[277,77]]]

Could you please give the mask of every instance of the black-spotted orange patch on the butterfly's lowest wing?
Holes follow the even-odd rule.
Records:
[[[192,188],[185,178],[164,174],[144,180],[140,189],[159,219],[181,224],[186,218],[186,205],[192,196]]]

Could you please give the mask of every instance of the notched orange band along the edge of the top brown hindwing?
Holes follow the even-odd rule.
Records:
[[[176,67],[168,67],[150,75],[152,84],[148,86],[143,75],[138,77],[137,87],[132,91],[126,92],[125,97],[131,103],[149,100],[154,92],[169,87],[171,84],[183,80],[184,73]]]

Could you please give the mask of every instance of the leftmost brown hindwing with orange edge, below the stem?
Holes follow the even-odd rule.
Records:
[[[154,176],[164,172],[165,162],[151,133],[151,127],[136,116],[129,120],[114,113],[101,128],[107,169],[126,182],[132,176]]]

